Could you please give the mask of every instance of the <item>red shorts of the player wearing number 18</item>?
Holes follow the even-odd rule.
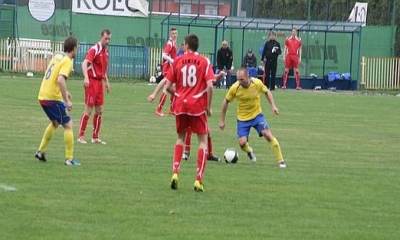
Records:
[[[207,134],[208,124],[207,115],[202,114],[200,116],[190,116],[186,114],[181,114],[175,116],[176,119],[176,132],[183,133],[188,131],[190,128],[192,132],[196,134]]]

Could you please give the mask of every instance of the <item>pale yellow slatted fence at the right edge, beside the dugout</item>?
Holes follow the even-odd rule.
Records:
[[[363,57],[360,87],[367,90],[399,90],[400,58]]]

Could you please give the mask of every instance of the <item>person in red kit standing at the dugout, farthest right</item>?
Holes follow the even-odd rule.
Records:
[[[282,88],[285,89],[287,87],[289,69],[293,68],[296,79],[296,89],[300,90],[301,85],[299,65],[301,63],[301,38],[297,36],[296,28],[293,28],[291,36],[286,38],[284,58],[285,72],[283,73]]]

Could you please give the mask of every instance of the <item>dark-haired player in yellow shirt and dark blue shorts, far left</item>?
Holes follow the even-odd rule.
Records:
[[[46,160],[47,147],[58,126],[64,128],[65,165],[80,165],[74,159],[74,134],[72,120],[67,111],[72,110],[71,94],[67,90],[66,80],[73,67],[73,59],[77,53],[78,42],[69,37],[64,41],[64,53],[56,53],[46,69],[39,90],[39,103],[50,120],[44,131],[42,141],[35,157]]]

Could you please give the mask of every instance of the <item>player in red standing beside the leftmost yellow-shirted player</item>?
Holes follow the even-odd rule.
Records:
[[[106,144],[100,139],[99,135],[104,105],[104,89],[107,92],[111,91],[107,76],[108,45],[110,41],[110,30],[103,30],[100,41],[89,49],[82,63],[82,72],[85,77],[85,110],[82,114],[79,127],[79,143],[87,143],[85,140],[85,130],[94,108],[92,143]]]

